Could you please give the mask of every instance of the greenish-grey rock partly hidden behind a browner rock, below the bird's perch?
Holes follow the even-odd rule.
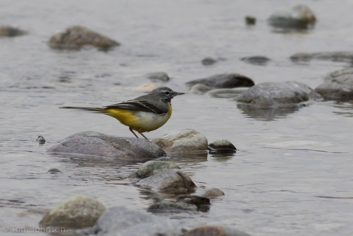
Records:
[[[147,161],[146,163],[143,163],[138,168],[138,170],[132,173],[129,177],[137,177],[143,179],[171,169],[180,169],[180,167],[172,161]]]

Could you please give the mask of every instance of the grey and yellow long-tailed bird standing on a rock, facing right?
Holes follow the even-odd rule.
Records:
[[[98,107],[59,107],[90,112],[103,113],[119,120],[121,124],[129,127],[130,131],[138,138],[133,130],[136,130],[146,140],[143,132],[156,130],[164,125],[172,115],[172,98],[185,93],[174,92],[163,87],[151,91],[151,93],[138,98],[120,102],[118,104]]]

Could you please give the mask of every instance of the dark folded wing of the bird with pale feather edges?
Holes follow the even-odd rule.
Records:
[[[163,103],[163,106],[159,107],[150,102],[143,100],[128,100],[125,102],[120,102],[118,104],[105,106],[106,109],[126,109],[132,111],[144,111],[144,112],[153,112],[157,114],[164,114],[168,112],[168,106]]]

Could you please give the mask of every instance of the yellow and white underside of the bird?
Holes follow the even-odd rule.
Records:
[[[120,123],[131,127],[133,130],[149,132],[160,128],[169,120],[172,115],[172,106],[168,104],[168,108],[169,111],[164,114],[108,108],[105,114],[114,117]]]

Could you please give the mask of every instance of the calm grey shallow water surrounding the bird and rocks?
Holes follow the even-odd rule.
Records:
[[[1,24],[29,31],[0,38],[0,226],[9,227],[2,234],[18,235],[24,229],[31,233],[42,216],[18,213],[52,208],[73,195],[143,212],[152,202],[149,193],[127,179],[139,163],[120,166],[45,153],[84,130],[132,135],[111,117],[59,106],[115,104],[142,95],[131,88],[145,83],[186,92],[185,82],[217,73],[241,73],[256,84],[294,80],[315,88],[326,73],[351,66],[289,60],[297,52],[353,47],[352,1],[305,1],[318,19],[307,32],[280,34],[267,25],[271,13],[301,3],[1,0]],[[245,26],[248,14],[257,18],[253,27]],[[108,52],[57,51],[46,45],[52,34],[71,25],[86,26],[122,45]],[[240,60],[253,55],[271,61],[256,66]],[[203,66],[205,57],[226,60]],[[156,71],[165,71],[172,79],[162,83],[144,78]],[[192,128],[209,142],[226,138],[239,151],[228,156],[174,157],[198,185],[197,193],[211,186],[225,196],[213,199],[209,212],[167,214],[169,218],[186,228],[220,224],[257,236],[351,235],[352,102],[311,102],[297,109],[254,112],[232,98],[187,93],[172,103],[172,118],[147,137]],[[38,135],[47,143],[38,144]],[[47,174],[53,167],[63,173]]]

